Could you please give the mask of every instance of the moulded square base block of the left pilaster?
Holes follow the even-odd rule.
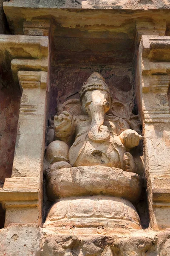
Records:
[[[0,188],[0,201],[6,209],[5,227],[12,223],[40,224],[39,200],[40,179],[38,177],[6,178],[3,188]]]

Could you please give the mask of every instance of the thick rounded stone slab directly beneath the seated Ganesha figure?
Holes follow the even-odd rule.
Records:
[[[55,164],[48,171],[48,197],[112,195],[130,202],[139,199],[142,178],[133,172],[106,166],[79,166],[56,169]]]

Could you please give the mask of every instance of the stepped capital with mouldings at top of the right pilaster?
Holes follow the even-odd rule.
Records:
[[[170,37],[142,35],[139,55],[144,122],[170,122]]]

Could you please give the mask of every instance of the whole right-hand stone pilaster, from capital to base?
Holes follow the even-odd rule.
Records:
[[[144,134],[145,172],[153,229],[170,227],[170,37],[143,35],[136,95]]]

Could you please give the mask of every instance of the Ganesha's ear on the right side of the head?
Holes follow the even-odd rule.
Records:
[[[130,113],[129,113],[129,105],[125,105],[122,102],[115,101],[112,103],[112,108],[111,108],[112,113],[120,118],[123,119],[129,119],[130,118]]]

